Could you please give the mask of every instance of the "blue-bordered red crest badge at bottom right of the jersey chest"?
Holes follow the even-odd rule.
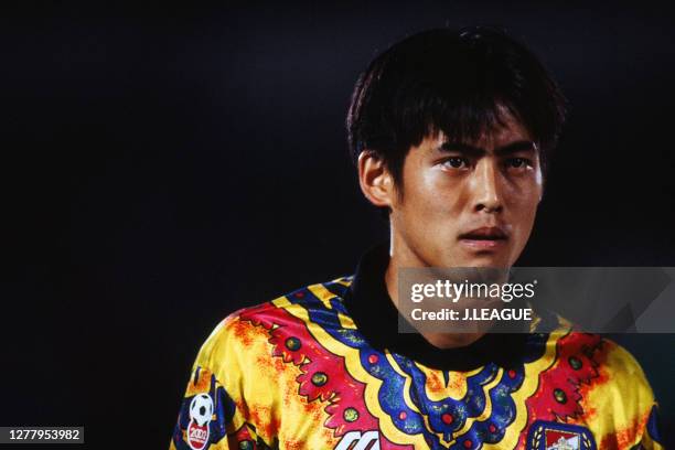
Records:
[[[537,420],[527,433],[527,450],[596,450],[588,428]]]

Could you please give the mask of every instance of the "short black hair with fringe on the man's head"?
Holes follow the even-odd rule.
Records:
[[[350,151],[354,162],[374,151],[400,185],[410,147],[439,131],[476,141],[503,125],[504,108],[532,135],[545,171],[566,100],[537,57],[497,28],[424,31],[358,77],[346,118]]]

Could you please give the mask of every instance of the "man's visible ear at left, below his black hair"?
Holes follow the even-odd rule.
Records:
[[[384,160],[373,151],[364,150],[358,156],[358,184],[375,206],[392,207],[396,195],[394,179]]]

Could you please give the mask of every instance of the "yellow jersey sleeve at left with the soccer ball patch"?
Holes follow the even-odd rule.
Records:
[[[237,313],[221,322],[193,365],[170,450],[269,449],[239,394],[248,376],[247,339]],[[232,393],[235,394],[234,398]],[[266,418],[258,418],[265,420]]]

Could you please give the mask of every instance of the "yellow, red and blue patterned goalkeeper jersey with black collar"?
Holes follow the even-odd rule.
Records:
[[[439,350],[398,333],[386,265],[371,251],[354,277],[225,319],[170,448],[662,448],[650,385],[621,346],[560,322]]]

